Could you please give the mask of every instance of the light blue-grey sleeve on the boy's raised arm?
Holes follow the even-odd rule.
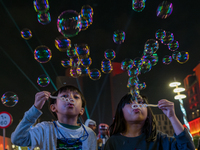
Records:
[[[29,130],[31,126],[42,114],[34,105],[24,114],[23,119],[18,124],[15,131],[11,134],[11,142],[19,146],[30,146],[31,136]]]

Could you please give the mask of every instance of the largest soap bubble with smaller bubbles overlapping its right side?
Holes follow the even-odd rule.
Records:
[[[63,11],[57,19],[58,31],[64,37],[74,37],[93,23],[93,14],[93,8],[90,5],[82,6],[80,13],[75,10]]]

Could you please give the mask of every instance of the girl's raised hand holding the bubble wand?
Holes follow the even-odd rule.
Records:
[[[158,101],[158,108],[160,108],[169,119],[176,116],[173,102],[170,102],[166,99],[161,99]]]

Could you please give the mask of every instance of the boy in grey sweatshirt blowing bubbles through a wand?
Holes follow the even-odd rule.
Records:
[[[50,97],[50,98],[49,98]],[[53,122],[41,122],[30,128],[40,117],[40,111],[46,100],[57,118]],[[15,145],[39,147],[41,150],[95,150],[95,133],[83,124],[77,123],[85,107],[83,94],[74,86],[66,85],[58,89],[53,96],[48,91],[35,95],[34,105],[25,112],[22,121],[11,135]]]

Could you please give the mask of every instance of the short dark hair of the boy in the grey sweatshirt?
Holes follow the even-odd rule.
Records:
[[[70,91],[77,91],[78,94],[80,94],[81,96],[81,100],[82,100],[82,108],[85,108],[86,106],[86,100],[85,100],[85,97],[83,96],[82,92],[76,88],[75,86],[73,85],[65,85],[65,86],[62,86],[60,87],[57,91],[53,92],[52,93],[52,96],[58,96],[58,93],[61,93],[63,91],[67,91],[67,90],[70,90]],[[56,99],[53,99],[53,98],[49,98],[49,109],[50,109],[50,106],[51,104],[55,104],[56,103]],[[50,109],[50,112],[52,113],[52,115],[56,118],[57,118],[57,114],[55,112],[52,112],[51,109]]]

